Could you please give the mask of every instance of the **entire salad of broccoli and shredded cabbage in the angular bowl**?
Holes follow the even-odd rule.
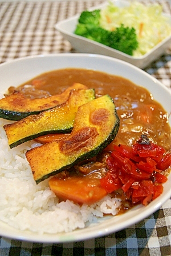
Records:
[[[171,35],[169,19],[162,14],[162,6],[157,3],[145,6],[143,3],[133,1],[129,6],[117,7],[109,2],[104,9],[90,13],[96,13],[95,19],[92,21],[89,17],[86,18],[88,11],[84,11],[80,15],[75,34],[134,57],[148,53]],[[87,25],[82,23],[83,18],[87,19],[87,25],[90,24],[88,29]],[[90,23],[88,20],[91,20]],[[96,27],[95,31],[93,26]]]

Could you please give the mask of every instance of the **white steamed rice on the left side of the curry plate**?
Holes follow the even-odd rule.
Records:
[[[0,118],[0,221],[19,230],[54,234],[82,229],[103,214],[118,213],[120,199],[107,196],[91,206],[59,203],[47,180],[36,185],[25,153],[39,144],[30,141],[10,149],[3,129],[9,122]]]

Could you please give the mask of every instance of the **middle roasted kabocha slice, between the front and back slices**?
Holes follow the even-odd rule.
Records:
[[[50,133],[70,133],[74,126],[76,112],[80,105],[95,99],[95,90],[73,90],[62,105],[29,115],[17,122],[3,126],[10,148],[23,142]]]

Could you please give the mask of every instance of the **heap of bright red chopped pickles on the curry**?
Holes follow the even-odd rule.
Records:
[[[161,171],[171,166],[171,153],[143,136],[133,146],[113,146],[109,171],[100,184],[108,193],[122,189],[122,198],[148,205],[161,195],[162,183],[168,180]]]

